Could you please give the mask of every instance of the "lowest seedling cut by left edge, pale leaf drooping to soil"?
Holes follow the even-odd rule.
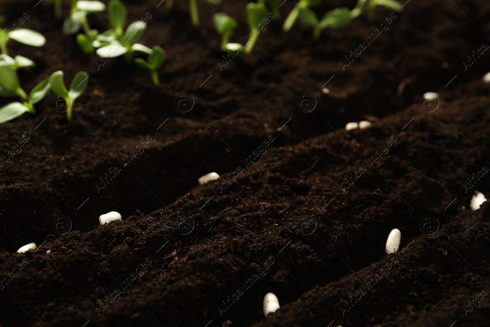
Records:
[[[15,70],[9,64],[0,62],[0,96],[19,96],[24,101],[10,102],[0,108],[0,123],[8,122],[25,112],[35,114],[34,104],[43,100],[49,91],[49,78],[37,84],[27,96],[19,84]]]

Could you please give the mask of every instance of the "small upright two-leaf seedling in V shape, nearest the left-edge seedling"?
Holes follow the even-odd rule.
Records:
[[[73,111],[73,103],[75,100],[82,95],[83,91],[87,87],[89,83],[89,75],[86,72],[78,72],[75,74],[72,80],[72,84],[70,85],[70,90],[67,90],[65,87],[65,82],[63,81],[63,72],[57,71],[49,76],[49,84],[51,90],[57,96],[63,98],[66,104],[66,118],[68,119],[68,123],[72,122],[72,111]]]

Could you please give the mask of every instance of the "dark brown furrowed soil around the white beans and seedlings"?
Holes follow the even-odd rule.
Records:
[[[315,41],[282,31],[288,0],[251,54],[225,61],[212,16],[234,17],[245,44],[248,0],[198,0],[198,29],[188,1],[124,0],[128,22],[151,17],[142,43],[167,52],[158,87],[123,58],[84,55],[37,2],[0,2],[5,27],[26,13],[47,39],[8,45],[37,63],[23,88],[90,77],[71,125],[52,93],[0,125],[1,156],[24,142],[0,165],[2,327],[489,326],[490,203],[469,208],[490,197],[490,56],[474,55],[490,45],[489,1],[379,7]],[[319,15],[356,1],[324,2]],[[108,28],[107,12],[89,21]],[[210,172],[221,179],[199,185]],[[99,226],[113,210],[123,221]],[[269,292],[281,307],[264,318]]]

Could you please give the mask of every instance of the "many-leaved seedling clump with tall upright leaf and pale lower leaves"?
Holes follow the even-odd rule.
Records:
[[[137,43],[145,33],[147,25],[142,21],[135,21],[123,32],[126,24],[126,7],[119,0],[111,0],[108,4],[109,23],[111,29],[97,35],[92,46],[102,58],[114,58],[124,55],[128,63],[131,62],[134,51],[151,54],[151,49]]]

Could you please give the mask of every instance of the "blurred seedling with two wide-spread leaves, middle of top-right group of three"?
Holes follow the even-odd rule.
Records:
[[[349,25],[350,9],[347,7],[332,9],[323,15],[319,21],[317,14],[308,7],[301,7],[298,13],[298,20],[308,26],[313,26],[313,36],[315,39],[320,37],[322,29],[326,27],[340,28]]]

